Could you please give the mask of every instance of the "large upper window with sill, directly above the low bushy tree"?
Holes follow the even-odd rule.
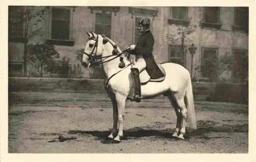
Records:
[[[72,8],[51,7],[49,42],[55,45],[74,45],[72,41]]]

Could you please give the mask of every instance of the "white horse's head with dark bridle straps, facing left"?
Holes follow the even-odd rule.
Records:
[[[95,34],[92,31],[86,33],[89,36],[89,41],[86,43],[86,47],[84,47],[82,65],[89,67],[95,60],[101,58],[105,41],[101,35]]]

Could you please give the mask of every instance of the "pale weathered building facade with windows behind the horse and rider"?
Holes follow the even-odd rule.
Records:
[[[65,67],[69,74],[63,76],[97,78],[93,74],[100,67],[86,69],[76,55],[76,51],[82,50],[88,41],[86,31],[105,34],[125,49],[130,44],[136,44],[139,38],[138,22],[141,17],[148,17],[155,37],[153,55],[157,63],[181,64],[190,72],[193,69],[191,76],[194,79],[206,82],[216,82],[221,78],[248,78],[247,7],[34,8],[44,10],[44,13],[42,20],[34,18],[29,21],[40,31],[33,34],[34,26],[29,28],[28,33],[32,35],[28,37],[28,44],[53,44],[60,54],[59,68]],[[16,10],[26,9],[28,7],[9,6],[9,19],[13,15],[22,16]],[[9,30],[10,24],[11,20]],[[9,31],[9,76],[29,76],[35,69],[24,60],[26,25],[23,21],[15,21],[14,26],[19,32]],[[192,43],[197,48],[193,57],[188,50]],[[216,69],[222,56],[230,56],[236,64],[232,63],[231,70],[219,73]],[[27,68],[24,68],[24,62]]]

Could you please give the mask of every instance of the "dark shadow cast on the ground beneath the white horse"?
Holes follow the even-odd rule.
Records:
[[[162,123],[164,124],[164,123]],[[225,132],[225,133],[232,133],[232,132],[247,132],[248,133],[248,124],[244,125],[218,125],[218,122],[212,122],[212,121],[198,121],[198,129],[197,130],[188,130],[187,133],[184,135],[185,140],[193,140],[195,138],[200,139],[206,139],[210,140],[212,138],[230,138],[230,137],[221,137],[221,136],[215,136],[215,137],[208,137],[208,133],[212,132]],[[70,130],[69,134],[79,134],[82,136],[88,136],[91,135],[93,137],[96,137],[96,140],[100,140],[101,143],[104,143],[106,140],[106,137],[110,134],[111,131],[83,131],[83,130]],[[172,130],[163,129],[163,130],[156,130],[156,129],[150,129],[149,126],[145,127],[134,127],[131,129],[124,130],[124,139],[123,140],[129,140],[129,139],[137,139],[142,137],[156,137],[156,138],[166,138],[166,139],[173,139],[176,140],[176,138],[172,137]]]

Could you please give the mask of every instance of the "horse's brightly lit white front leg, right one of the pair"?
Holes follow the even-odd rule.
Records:
[[[119,129],[118,134],[115,137],[114,141],[120,142],[120,137],[123,137],[123,119],[124,119],[124,107],[125,107],[126,96],[117,93],[116,94],[116,102],[117,102],[117,109],[118,109],[118,123]]]

